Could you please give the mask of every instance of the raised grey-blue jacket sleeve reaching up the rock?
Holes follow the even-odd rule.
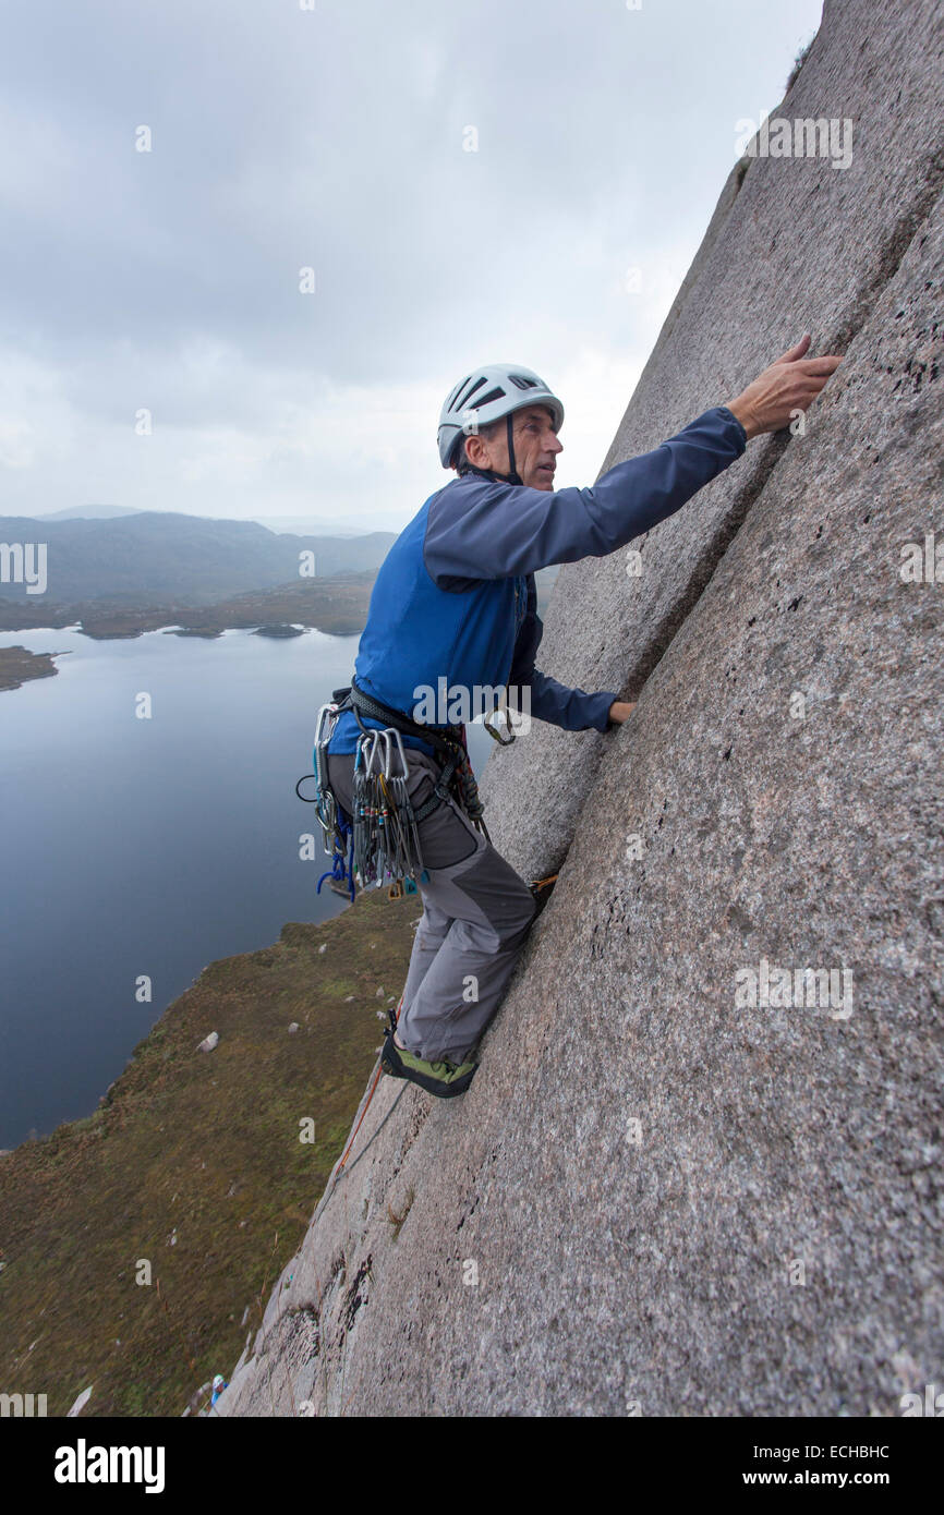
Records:
[[[605,558],[674,515],[746,445],[736,417],[715,406],[588,489],[529,489],[465,474],[430,501],[426,568],[439,588],[459,588],[459,580],[509,579],[549,564]]]

